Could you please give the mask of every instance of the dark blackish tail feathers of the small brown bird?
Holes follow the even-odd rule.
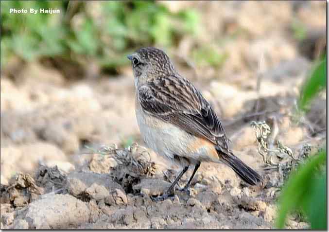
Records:
[[[256,185],[262,178],[253,169],[248,167],[244,162],[242,162],[238,157],[236,157],[232,152],[221,149],[221,147],[216,146],[217,153],[219,157],[222,158],[225,164],[230,166],[234,172],[242,178],[245,182],[251,185]]]

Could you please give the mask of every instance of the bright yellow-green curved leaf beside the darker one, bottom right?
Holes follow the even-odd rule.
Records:
[[[312,188],[314,176],[318,173],[318,167],[326,163],[326,158],[326,151],[319,152],[319,154],[311,157],[307,163],[291,174],[279,198],[280,210],[277,218],[277,228],[283,229],[287,214],[294,209],[301,209],[302,206],[309,213],[309,218],[318,216],[318,213],[314,214],[314,211],[310,208],[315,207],[315,205],[309,204],[307,206],[306,202],[310,196],[313,197],[317,194],[317,189]]]

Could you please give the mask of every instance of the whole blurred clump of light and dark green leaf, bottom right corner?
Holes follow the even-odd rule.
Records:
[[[319,152],[291,174],[279,199],[278,228],[284,228],[289,212],[301,210],[312,229],[326,229],[327,175],[323,168],[319,168],[326,164],[326,158],[326,151]]]

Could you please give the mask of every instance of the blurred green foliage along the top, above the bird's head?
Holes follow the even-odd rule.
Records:
[[[125,54],[145,45],[172,46],[197,32],[194,10],[171,13],[154,1],[1,1],[1,67],[13,56],[24,61],[56,57],[101,67],[127,64]],[[95,4],[96,5],[96,4]],[[93,5],[94,6],[94,5]],[[61,14],[10,14],[9,9],[60,9]]]

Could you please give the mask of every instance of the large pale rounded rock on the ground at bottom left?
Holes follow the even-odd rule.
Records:
[[[29,204],[25,220],[30,229],[65,229],[89,219],[87,205],[70,195],[52,195]]]

